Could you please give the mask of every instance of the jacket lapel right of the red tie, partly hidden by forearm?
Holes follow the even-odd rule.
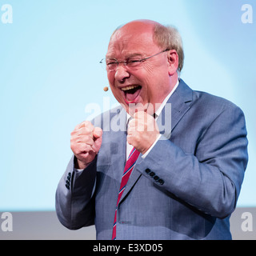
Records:
[[[186,113],[186,111],[190,109],[190,105],[192,102],[192,93],[193,91],[190,89],[190,87],[187,86],[186,83],[183,82],[181,79],[177,89],[174,91],[174,94],[170,96],[168,102],[166,103],[166,106],[162,109],[162,112],[158,117],[157,123],[158,126],[161,126],[163,128],[162,130],[160,130],[160,132],[166,138],[170,138],[171,131],[174,130],[175,126],[177,126],[178,122],[182,119],[182,116]],[[169,104],[171,104],[171,108]],[[122,200],[126,197],[126,194],[128,194],[130,190],[134,187],[135,183],[138,181],[138,178],[140,178],[141,175],[142,174],[136,170],[135,165],[132,174],[130,174],[130,178],[126,184],[126,189],[122,194],[120,202],[122,202]],[[120,178],[119,175],[118,178]],[[120,182],[121,179],[122,176],[119,179]]]

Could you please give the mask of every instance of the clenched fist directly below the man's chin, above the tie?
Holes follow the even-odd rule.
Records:
[[[127,142],[140,153],[145,154],[158,138],[158,125],[154,118],[144,111],[134,114],[127,130]]]

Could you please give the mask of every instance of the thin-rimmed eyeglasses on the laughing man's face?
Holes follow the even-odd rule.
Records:
[[[167,50],[169,50],[169,49],[162,50],[158,54],[162,54],[162,53],[166,52]],[[127,66],[132,69],[134,67],[140,66],[142,64],[142,62],[145,62],[147,59],[157,56],[158,54],[154,54],[152,56],[149,56],[146,58],[141,58],[141,59],[138,57],[127,58],[126,61],[123,61],[123,62],[118,62],[118,60],[116,58],[102,58],[102,60],[100,61],[100,64],[102,66],[106,67],[107,71],[117,70],[118,65],[120,63],[123,63],[124,66]]]

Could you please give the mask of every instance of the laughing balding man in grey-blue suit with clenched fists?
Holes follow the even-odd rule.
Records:
[[[98,239],[231,239],[247,164],[244,115],[191,90],[178,79],[182,65],[174,28],[138,20],[114,31],[106,70],[122,108],[71,133],[74,156],[56,192],[64,226],[95,225]]]

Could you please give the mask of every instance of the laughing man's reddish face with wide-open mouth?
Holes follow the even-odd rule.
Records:
[[[146,58],[162,50],[165,49],[160,49],[153,41],[152,26],[131,24],[119,29],[111,38],[106,58],[122,62],[128,58]],[[119,64],[116,70],[107,72],[114,97],[130,114],[134,114],[136,108],[146,110],[148,106],[162,103],[171,89],[168,67],[167,53],[158,54],[132,68]],[[148,112],[155,111],[155,108],[150,109]]]

